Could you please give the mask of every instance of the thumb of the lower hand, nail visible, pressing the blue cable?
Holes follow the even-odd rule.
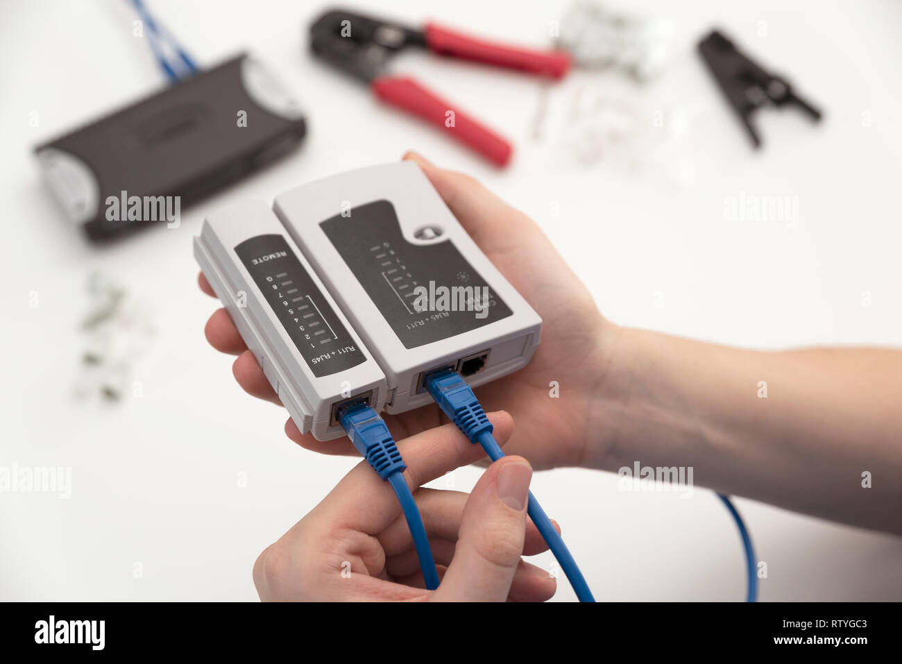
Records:
[[[532,468],[504,457],[466,501],[454,559],[433,595],[439,602],[504,602],[520,565]]]

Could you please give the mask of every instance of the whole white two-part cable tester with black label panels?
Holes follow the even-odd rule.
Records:
[[[428,373],[449,367],[477,386],[538,346],[541,318],[410,161],[291,189],[274,212],[262,201],[217,210],[194,254],[292,420],[318,440],[345,435],[343,403],[418,408],[431,401]],[[417,287],[488,298],[421,310]]]

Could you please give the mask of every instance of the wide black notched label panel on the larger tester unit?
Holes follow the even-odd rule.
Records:
[[[408,242],[387,200],[353,208],[350,217],[336,215],[319,226],[405,348],[456,337],[511,316],[511,309],[450,239]],[[431,297],[422,298],[424,291],[418,287]]]

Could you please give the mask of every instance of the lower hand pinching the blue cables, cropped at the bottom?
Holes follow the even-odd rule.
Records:
[[[489,415],[503,444],[513,422]],[[555,578],[520,559],[548,546],[526,517],[532,470],[521,457],[492,464],[473,493],[418,488],[481,456],[453,424],[401,440],[404,477],[422,515],[441,584],[426,590],[391,486],[365,462],[253,566],[263,601],[542,602]]]

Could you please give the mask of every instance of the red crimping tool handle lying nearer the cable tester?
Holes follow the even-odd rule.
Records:
[[[436,97],[413,78],[383,76],[373,79],[372,86],[376,97],[382,101],[398,106],[413,115],[419,115],[499,166],[511,160],[511,143],[474,118],[458,111],[445,100]]]

